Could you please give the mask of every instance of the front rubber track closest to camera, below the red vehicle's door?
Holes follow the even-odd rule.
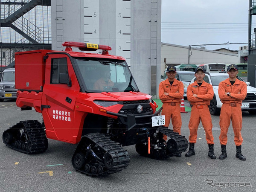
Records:
[[[86,137],[86,139],[89,139],[91,142],[95,143],[95,145],[98,145],[105,152],[108,152],[109,154],[111,154],[111,157],[113,159],[113,167],[112,169],[109,169],[102,173],[97,173],[95,175],[93,175],[92,173],[85,172],[84,169],[80,169],[77,171],[83,172],[91,176],[105,176],[105,175],[110,175],[110,174],[122,171],[123,169],[126,169],[126,167],[129,165],[130,157],[128,152],[124,150],[120,145],[112,141],[105,134],[92,133],[92,134],[87,134],[83,137]]]

